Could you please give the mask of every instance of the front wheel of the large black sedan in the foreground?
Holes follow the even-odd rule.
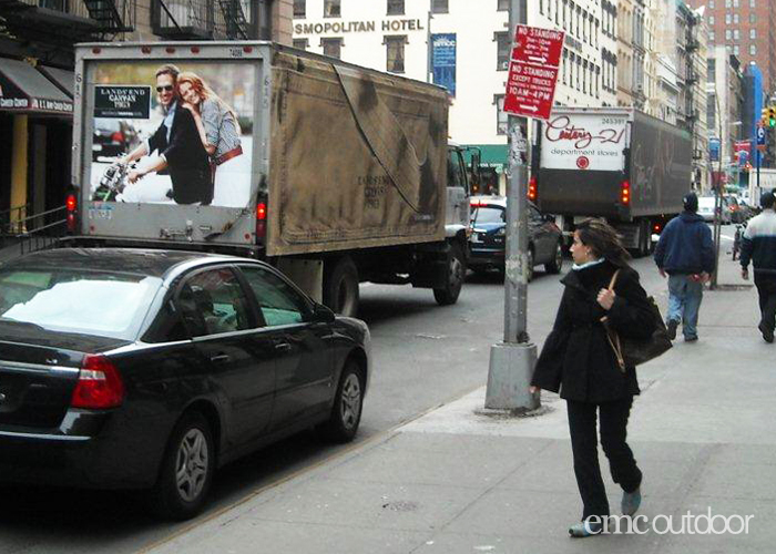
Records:
[[[334,442],[350,442],[356,437],[364,409],[363,376],[361,368],[355,360],[345,362],[331,413],[323,427],[324,434]]]

